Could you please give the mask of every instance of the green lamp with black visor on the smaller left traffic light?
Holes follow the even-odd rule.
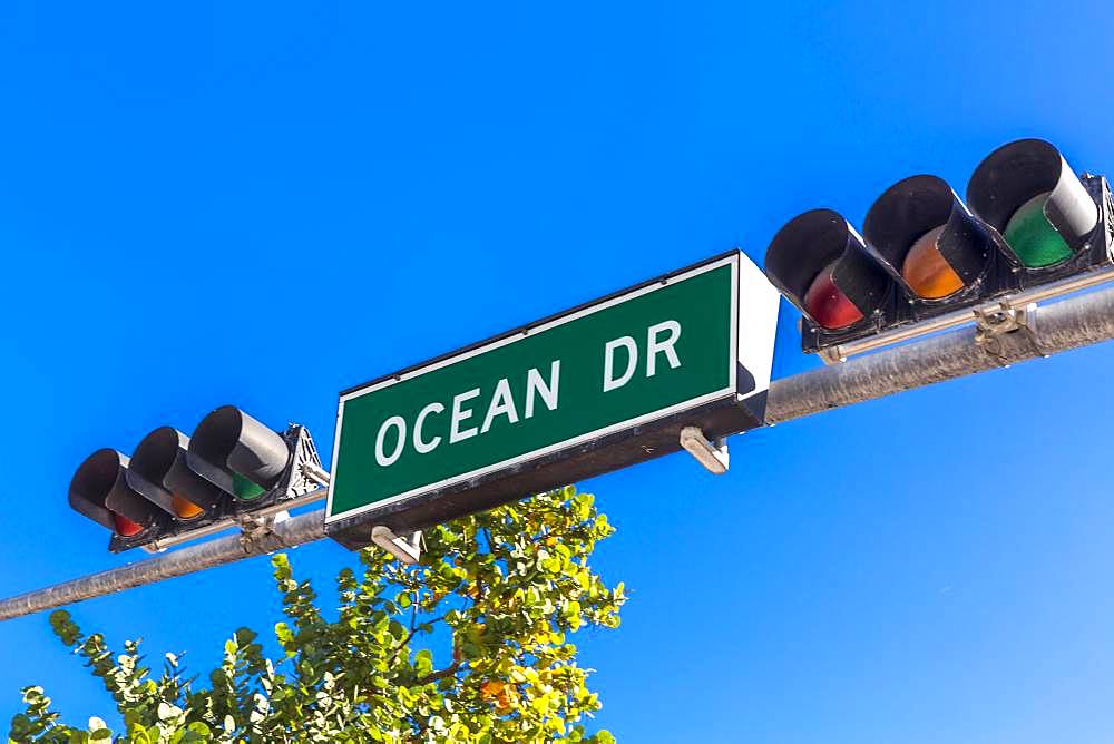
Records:
[[[277,486],[290,457],[282,437],[238,408],[224,405],[197,424],[186,462],[225,493],[250,501]]]

